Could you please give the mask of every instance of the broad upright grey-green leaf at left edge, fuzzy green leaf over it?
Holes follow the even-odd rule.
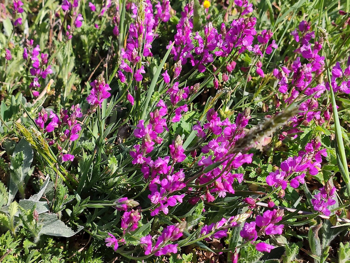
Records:
[[[7,205],[9,205],[18,191],[22,198],[25,196],[26,179],[33,173],[34,168],[30,168],[33,162],[33,149],[30,144],[22,139],[16,146],[11,156],[10,184]]]

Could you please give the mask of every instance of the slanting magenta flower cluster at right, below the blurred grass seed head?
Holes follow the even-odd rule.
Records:
[[[293,188],[298,188],[300,183],[304,183],[306,173],[310,175],[318,174],[321,168],[322,156],[327,156],[326,149],[321,149],[321,141],[317,137],[305,146],[305,151],[299,151],[297,156],[289,157],[280,165],[280,169],[271,172],[266,177],[266,183],[273,187],[286,189],[287,183]],[[297,174],[294,178],[293,175]]]

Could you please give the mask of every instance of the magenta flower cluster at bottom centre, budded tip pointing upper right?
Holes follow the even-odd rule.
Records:
[[[155,256],[162,256],[168,253],[177,253],[177,244],[172,244],[170,242],[174,242],[182,237],[182,232],[185,227],[186,222],[169,225],[157,238],[155,244],[152,243],[151,235],[141,237],[140,243],[145,249],[145,255],[154,254]]]

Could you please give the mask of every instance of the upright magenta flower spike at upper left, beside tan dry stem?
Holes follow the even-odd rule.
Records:
[[[48,54],[40,53],[41,49],[39,45],[33,46],[34,40],[27,41],[27,47],[23,50],[23,59],[30,60],[31,68],[29,69],[30,75],[32,75],[33,81],[29,87],[33,93],[33,96],[39,96],[37,88],[41,87],[40,79],[46,79],[47,75],[52,74],[51,65],[48,64]]]

